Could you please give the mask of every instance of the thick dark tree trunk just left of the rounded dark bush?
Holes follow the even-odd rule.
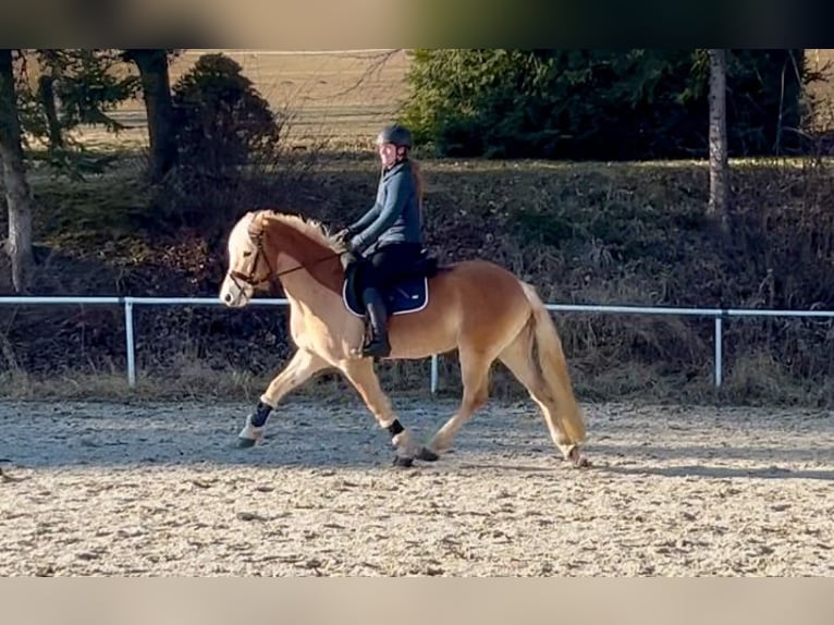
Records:
[[[136,63],[142,78],[150,143],[150,177],[159,182],[176,160],[173,130],[173,101],[165,50],[125,50],[125,58]]]

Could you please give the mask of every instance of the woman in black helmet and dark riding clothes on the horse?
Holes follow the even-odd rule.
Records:
[[[363,356],[384,357],[391,353],[391,346],[382,292],[422,250],[422,183],[419,168],[408,155],[412,148],[408,128],[398,124],[385,126],[377,135],[376,144],[382,166],[376,203],[336,236],[363,260],[357,278],[371,330]]]

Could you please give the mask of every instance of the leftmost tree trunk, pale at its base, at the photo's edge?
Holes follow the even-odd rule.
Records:
[[[10,49],[0,49],[0,160],[3,162],[3,186],[9,210],[9,238],[4,247],[12,261],[14,290],[23,293],[33,262],[32,192],[26,182]]]

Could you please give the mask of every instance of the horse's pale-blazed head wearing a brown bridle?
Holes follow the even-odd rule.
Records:
[[[262,212],[247,212],[229,235],[229,269],[220,286],[220,301],[226,306],[246,306],[256,290],[269,287],[272,266],[263,249]]]

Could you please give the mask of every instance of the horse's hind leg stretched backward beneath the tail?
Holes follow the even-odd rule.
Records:
[[[562,428],[555,397],[548,389],[544,378],[532,359],[532,336],[528,330],[520,332],[515,341],[499,354],[499,359],[525,385],[532,401],[541,408],[544,425],[548,426],[553,443],[565,459],[571,459],[575,445],[571,443]]]

